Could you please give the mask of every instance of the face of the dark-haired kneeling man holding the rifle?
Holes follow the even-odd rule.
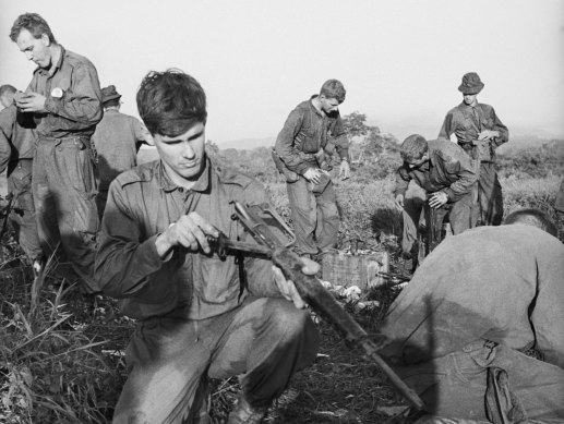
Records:
[[[196,123],[175,137],[154,134],[153,141],[168,177],[177,184],[194,181],[205,166],[205,125]]]

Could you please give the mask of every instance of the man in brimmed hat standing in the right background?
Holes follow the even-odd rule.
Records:
[[[455,134],[460,147],[472,159],[480,159],[479,217],[482,226],[499,226],[503,219],[503,195],[495,171],[495,149],[508,141],[509,132],[490,105],[478,102],[482,88],[476,72],[464,75],[458,87],[464,101],[446,113],[439,138]]]

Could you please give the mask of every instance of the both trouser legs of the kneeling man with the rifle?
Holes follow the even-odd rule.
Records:
[[[115,424],[191,422],[207,376],[241,380],[253,407],[269,404],[296,370],[315,359],[319,334],[305,311],[283,299],[249,299],[218,317],[151,318],[128,347],[131,373]]]

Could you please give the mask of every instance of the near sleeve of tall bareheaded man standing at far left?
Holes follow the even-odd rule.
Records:
[[[96,69],[91,63],[79,63],[72,74],[71,87],[61,98],[46,94],[45,109],[64,119],[58,120],[60,130],[83,130],[97,124],[103,117],[101,93]]]

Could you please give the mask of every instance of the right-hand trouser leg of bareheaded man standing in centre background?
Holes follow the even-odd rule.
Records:
[[[329,181],[325,190],[315,197],[319,217],[315,239],[319,250],[326,252],[336,247],[339,233],[339,211],[333,183]]]

